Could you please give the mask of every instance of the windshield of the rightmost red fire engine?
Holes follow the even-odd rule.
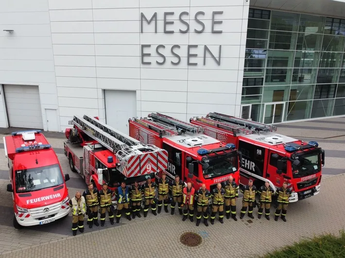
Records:
[[[299,166],[293,166],[293,177],[304,177],[314,174],[321,169],[321,158],[317,152],[307,153],[298,156]]]

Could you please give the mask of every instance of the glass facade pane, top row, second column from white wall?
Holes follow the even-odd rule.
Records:
[[[272,11],[271,30],[296,32],[298,14]]]

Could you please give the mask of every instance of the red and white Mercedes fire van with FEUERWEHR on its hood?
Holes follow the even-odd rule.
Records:
[[[69,213],[69,194],[55,151],[40,131],[13,132],[3,137],[12,193],[13,226],[51,223]]]

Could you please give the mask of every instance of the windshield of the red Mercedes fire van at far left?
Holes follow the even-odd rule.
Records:
[[[58,164],[16,170],[16,192],[26,193],[58,186],[64,183]]]

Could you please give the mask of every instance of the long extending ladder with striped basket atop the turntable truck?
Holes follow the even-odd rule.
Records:
[[[156,173],[168,167],[168,152],[113,129],[88,115],[74,115],[70,121],[75,127],[113,152],[118,169],[125,177],[137,177]]]

